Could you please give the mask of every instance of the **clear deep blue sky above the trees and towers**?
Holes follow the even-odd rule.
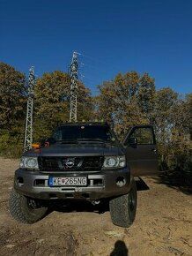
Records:
[[[92,94],[117,73],[148,72],[157,89],[192,92],[190,0],[0,0],[0,61],[20,72],[69,72]]]

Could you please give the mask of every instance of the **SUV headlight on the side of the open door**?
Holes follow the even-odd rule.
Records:
[[[125,155],[105,156],[103,169],[123,168],[126,166]]]

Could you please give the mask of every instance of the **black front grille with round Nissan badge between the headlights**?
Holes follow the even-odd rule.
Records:
[[[41,156],[39,166],[41,171],[99,170],[102,168],[103,160],[103,156]]]

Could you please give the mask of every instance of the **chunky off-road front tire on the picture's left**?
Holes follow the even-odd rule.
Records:
[[[35,202],[13,189],[9,201],[12,217],[18,222],[28,224],[40,221],[46,215],[48,207],[30,207],[30,202],[33,201]]]

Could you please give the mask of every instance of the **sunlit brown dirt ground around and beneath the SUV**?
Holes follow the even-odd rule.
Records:
[[[0,158],[0,255],[192,255],[192,197],[178,186],[145,177],[138,183],[137,218],[129,229],[110,214],[74,207],[33,225],[11,218],[8,207],[18,161]],[[149,187],[147,187],[146,186]]]

